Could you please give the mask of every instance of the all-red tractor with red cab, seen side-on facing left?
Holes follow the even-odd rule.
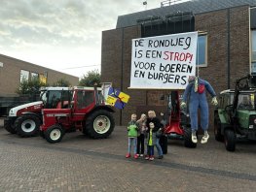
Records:
[[[66,109],[44,109],[41,136],[49,143],[60,142],[66,132],[76,129],[93,139],[107,138],[114,130],[115,121],[111,107],[104,104],[104,98],[93,90],[74,87],[72,99]]]

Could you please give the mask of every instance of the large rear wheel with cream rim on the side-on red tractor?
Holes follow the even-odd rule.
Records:
[[[98,110],[92,112],[86,120],[83,133],[93,139],[107,138],[114,130],[115,120],[111,112]]]

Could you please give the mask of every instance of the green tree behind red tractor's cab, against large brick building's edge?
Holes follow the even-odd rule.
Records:
[[[94,86],[96,83],[97,86],[100,86],[100,74],[98,70],[93,70],[84,75],[81,80],[79,80],[78,85],[80,86]]]

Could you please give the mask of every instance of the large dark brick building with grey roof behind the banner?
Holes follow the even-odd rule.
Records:
[[[255,6],[255,0],[192,0],[119,16],[116,29],[102,32],[101,56],[101,81],[112,82],[130,95],[126,109],[115,114],[117,124],[125,125],[131,112],[154,109],[159,114],[165,109],[160,97],[167,90],[128,89],[132,39],[199,31],[199,75],[219,93],[234,88],[238,78],[256,72]],[[188,22],[192,27],[187,27]],[[166,30],[162,30],[163,23]]]

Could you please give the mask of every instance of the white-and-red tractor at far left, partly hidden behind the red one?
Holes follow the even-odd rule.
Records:
[[[36,136],[42,124],[42,109],[57,108],[60,99],[68,97],[68,87],[42,87],[40,100],[12,108],[4,120],[4,128],[20,137]],[[59,106],[58,106],[59,108]]]

